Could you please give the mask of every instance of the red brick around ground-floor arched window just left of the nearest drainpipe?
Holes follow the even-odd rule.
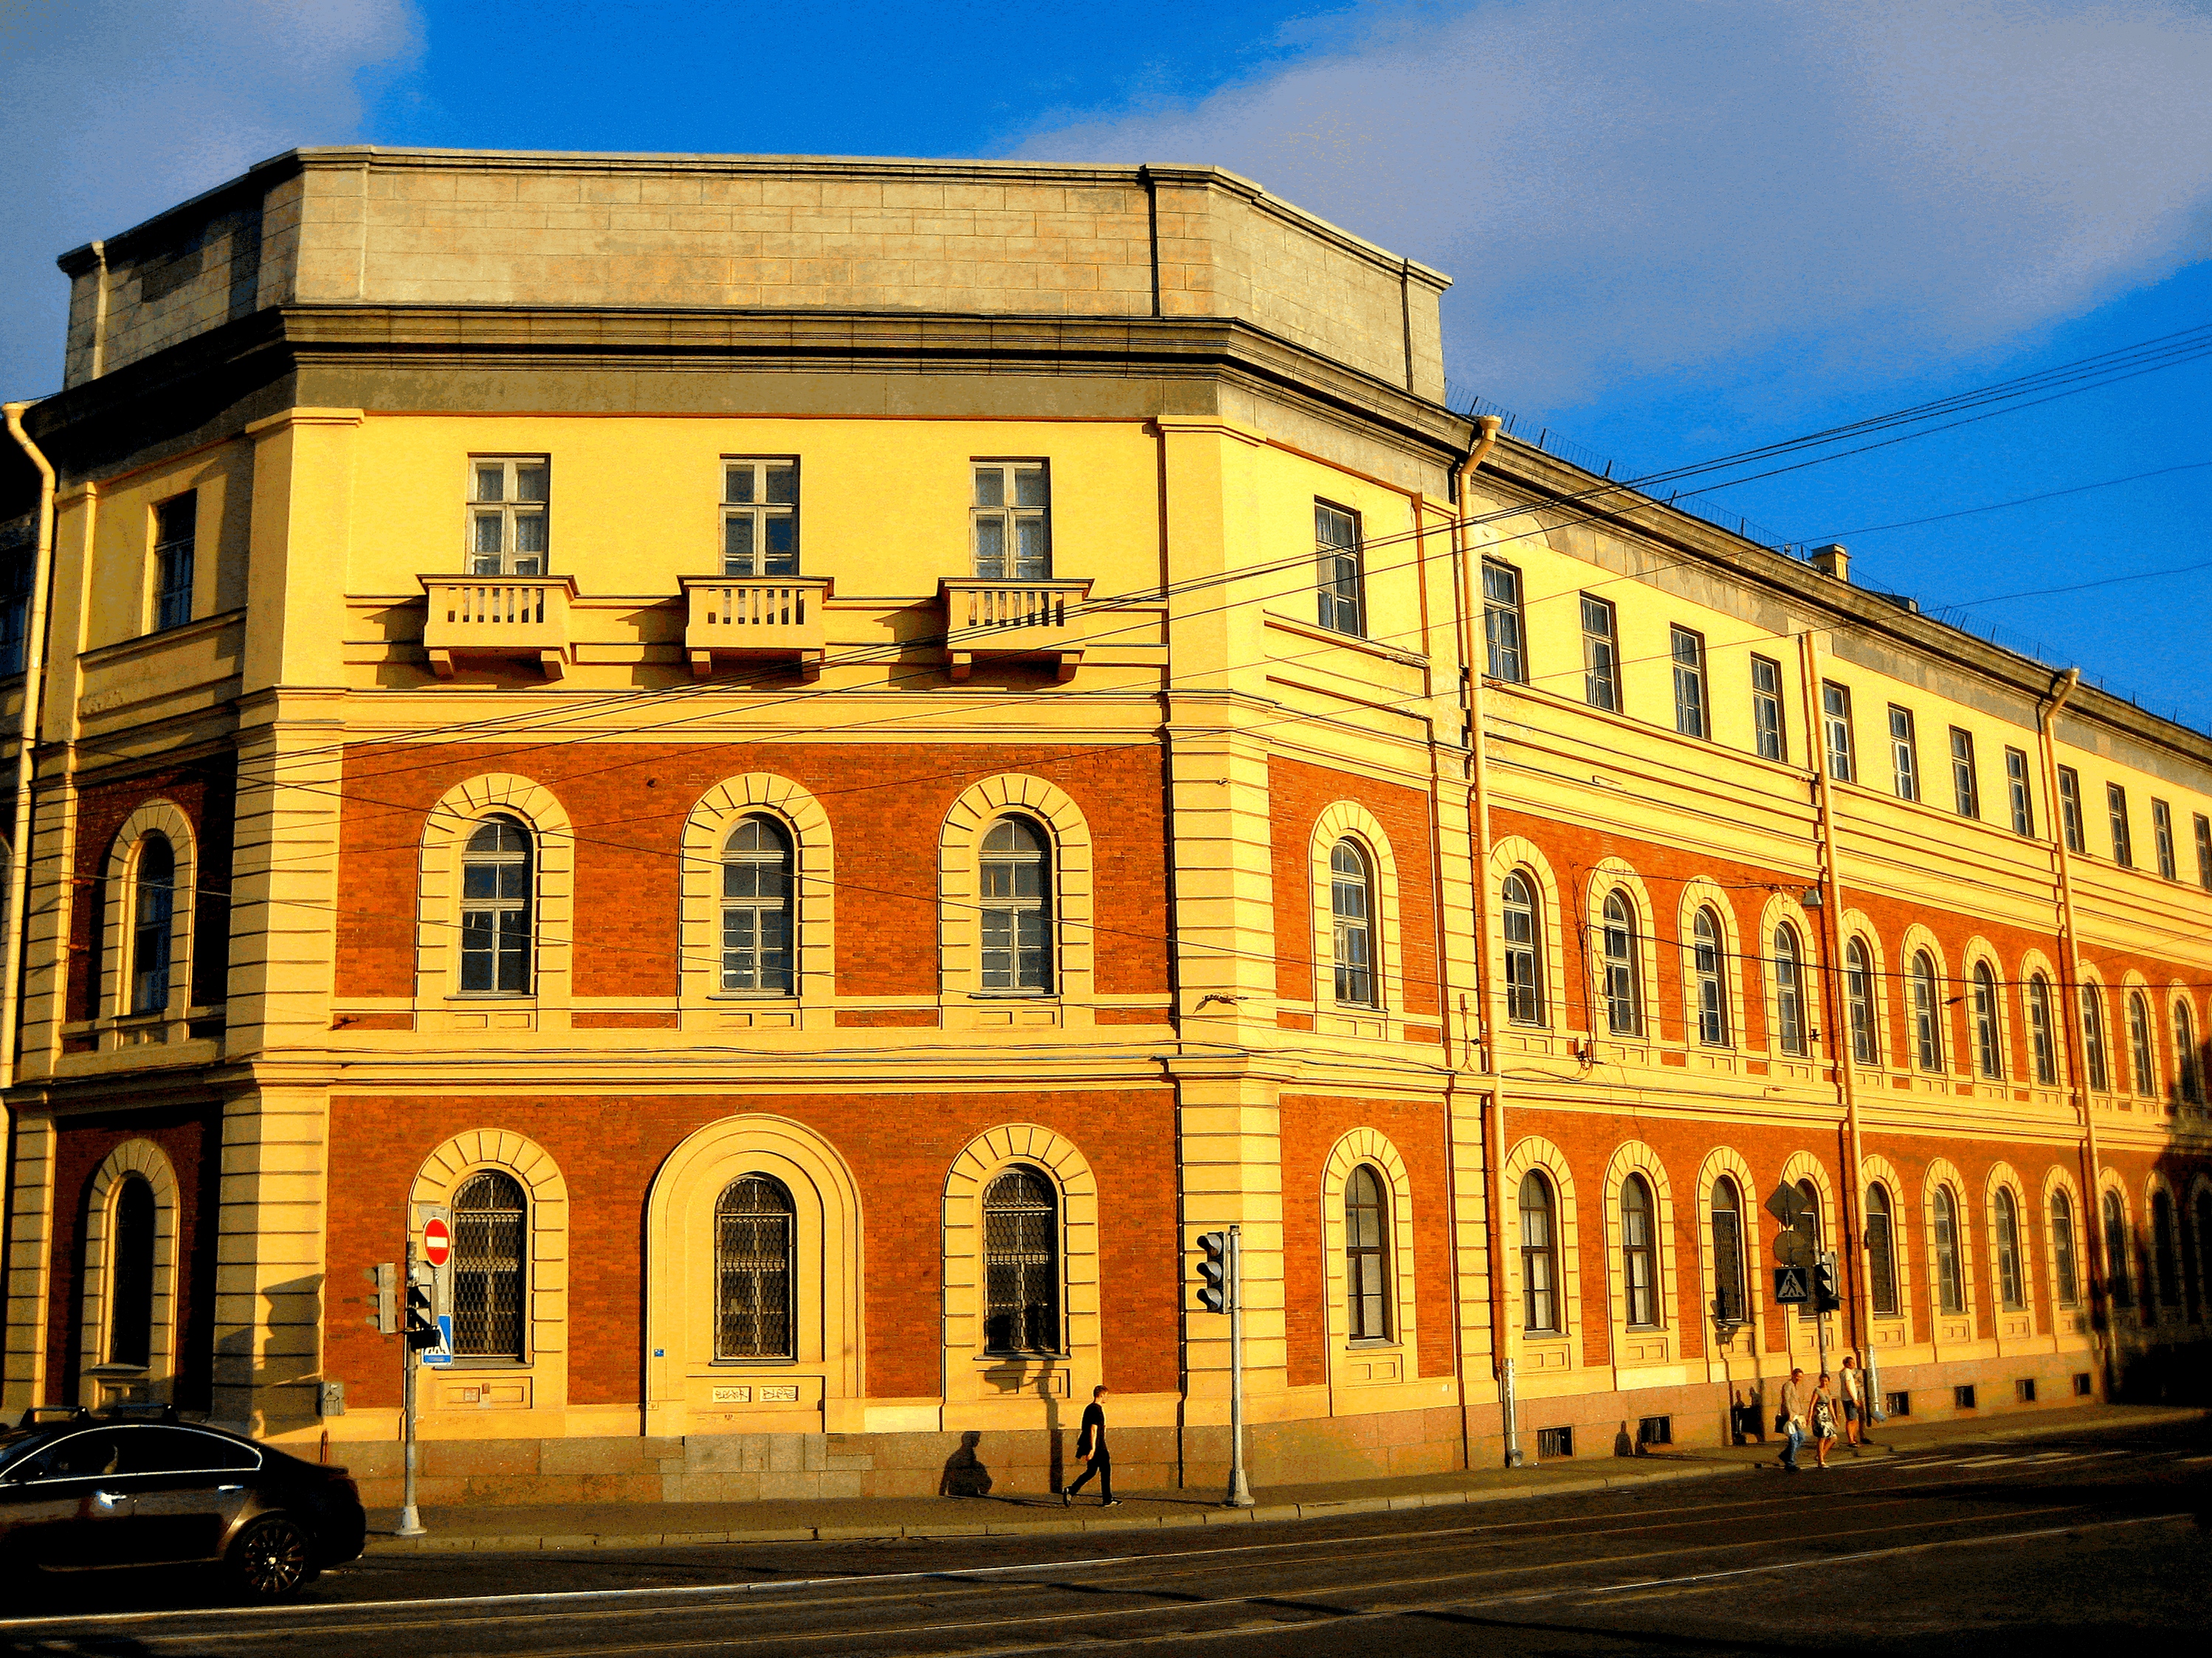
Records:
[[[1418,1375],[1451,1375],[1451,1172],[1444,1108],[1433,1101],[1283,1096],[1283,1324],[1290,1384],[1327,1373],[1321,1183],[1329,1152],[1371,1127],[1405,1158],[1413,1185],[1413,1307],[1420,1318]]]

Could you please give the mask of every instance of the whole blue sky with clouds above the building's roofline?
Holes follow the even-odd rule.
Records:
[[[1217,161],[1451,272],[1453,396],[1630,471],[2212,323],[2212,0],[0,0],[0,62],[7,396],[55,252],[354,139]],[[1936,608],[2212,564],[2205,460],[2212,358],[1719,500]],[[2212,730],[2208,601],[1964,615]]]

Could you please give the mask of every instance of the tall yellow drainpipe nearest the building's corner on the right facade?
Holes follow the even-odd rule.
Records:
[[[1506,1468],[1520,1468],[1522,1450],[1513,1413],[1513,1360],[1506,1353],[1506,1342],[1511,1340],[1511,1333],[1506,1331],[1504,1280],[1506,1218],[1504,1194],[1500,1189],[1506,1163],[1506,1083],[1504,1066],[1498,1054],[1498,973],[1491,968],[1491,796],[1489,754],[1482,734],[1482,659],[1478,657],[1482,641],[1475,637],[1475,617],[1482,615],[1482,606],[1475,590],[1475,555],[1467,542],[1467,482],[1475,475],[1475,466],[1482,464],[1484,455],[1489,455],[1498,444],[1498,429],[1502,424],[1504,422],[1498,416],[1482,416],[1475,420],[1475,447],[1451,475],[1453,504],[1458,506],[1458,513],[1451,520],[1451,533],[1460,566],[1460,661],[1467,672],[1467,816],[1475,836],[1475,869],[1469,886],[1475,900],[1475,997],[1482,1006],[1478,1028],[1482,1037],[1482,1068],[1491,1083],[1489,1123],[1482,1134],[1482,1207],[1486,1220],[1491,1291],[1491,1366],[1498,1377],[1498,1402],[1504,1408]],[[1467,1021],[1462,1017],[1462,1041],[1469,1039],[1464,1024]]]

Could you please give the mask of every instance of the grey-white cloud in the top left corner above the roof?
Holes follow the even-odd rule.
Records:
[[[356,75],[416,46],[409,0],[29,0],[0,20],[0,391],[62,380],[53,259],[299,144],[352,139]]]

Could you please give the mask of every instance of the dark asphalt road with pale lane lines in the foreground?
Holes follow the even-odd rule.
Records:
[[[2208,1525],[2190,1424],[1223,1532],[380,1556],[272,1609],[77,1578],[0,1656],[2095,1654],[2203,1638]]]

